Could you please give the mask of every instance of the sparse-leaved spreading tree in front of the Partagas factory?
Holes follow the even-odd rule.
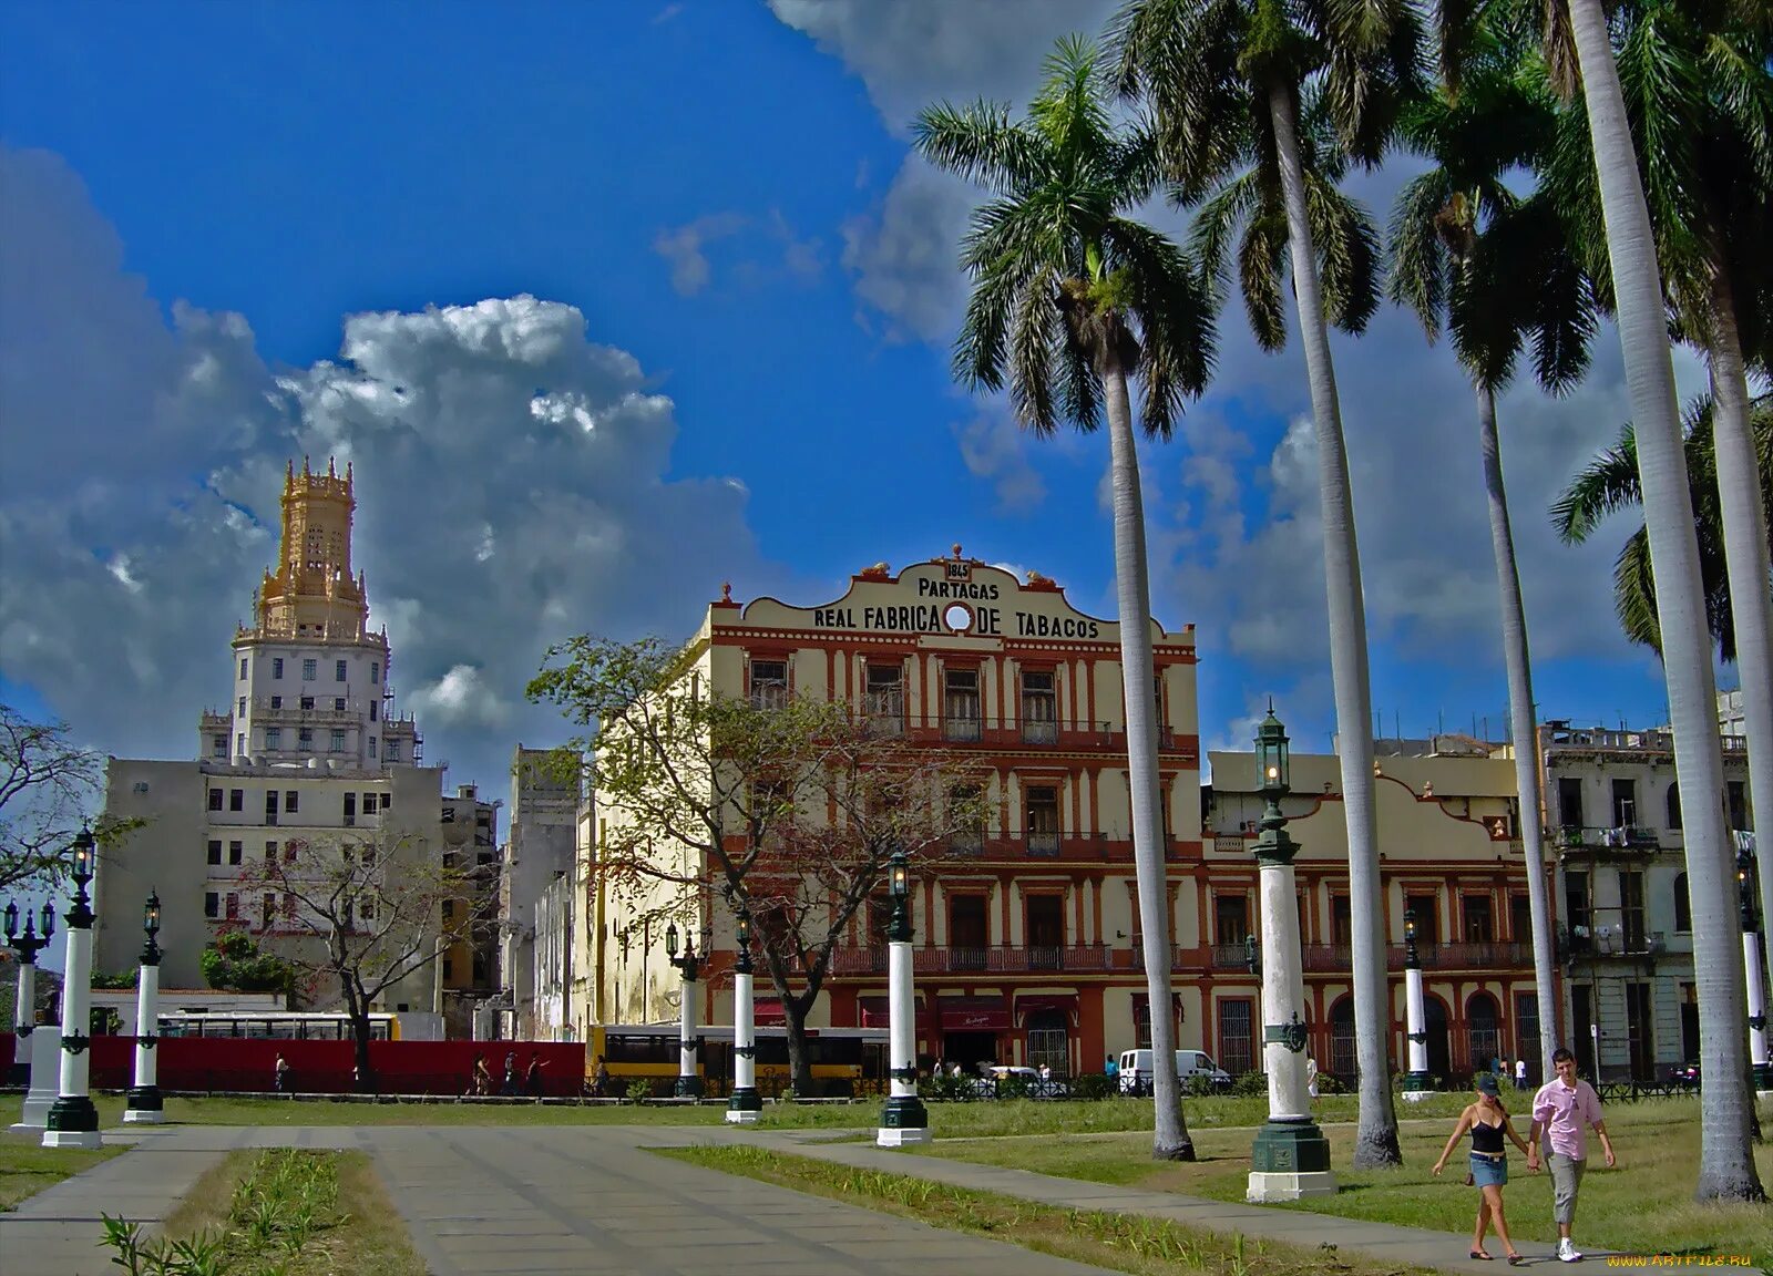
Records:
[[[548,652],[528,696],[589,728],[573,757],[596,794],[590,877],[619,943],[667,923],[711,934],[716,893],[750,914],[794,1092],[814,1093],[805,1026],[833,952],[853,943],[894,851],[922,863],[984,828],[988,774],[847,704],[754,705],[695,673],[693,652],[656,638],[582,634]]]

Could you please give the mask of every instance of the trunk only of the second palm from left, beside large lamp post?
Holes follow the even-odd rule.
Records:
[[[1300,307],[1300,340],[1312,385],[1317,429],[1317,496],[1324,523],[1324,588],[1330,599],[1330,681],[1335,688],[1337,755],[1342,764],[1342,810],[1347,819],[1347,895],[1353,923],[1355,1060],[1360,1067],[1360,1125],[1355,1168],[1402,1164],[1397,1109],[1392,1106],[1392,992],[1385,976],[1385,900],[1379,844],[1372,815],[1372,693],[1367,679],[1367,610],[1360,594],[1360,548],[1355,544],[1355,500],[1342,443],[1342,408],[1330,362],[1330,326],[1317,291],[1317,253],[1305,216],[1305,170],[1300,163],[1293,85],[1268,90],[1280,158],[1280,191],[1287,202],[1287,246],[1293,252],[1293,292]]]

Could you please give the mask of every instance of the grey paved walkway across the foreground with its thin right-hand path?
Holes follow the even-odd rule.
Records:
[[[1500,1262],[1466,1257],[1470,1237],[1147,1193],[1027,1170],[980,1166],[835,1143],[830,1134],[707,1125],[179,1125],[138,1136],[133,1152],[50,1187],[0,1216],[4,1276],[101,1276],[108,1251],[99,1212],[158,1223],[211,1164],[243,1147],[360,1148],[376,1159],[395,1209],[433,1276],[493,1272],[590,1276],[1092,1276],[1087,1267],[1018,1246],[945,1232],[752,1179],[700,1170],[647,1147],[746,1143],[886,1170],[1023,1200],[1172,1219],[1250,1239],[1287,1241],[1397,1271],[1496,1276]],[[110,1138],[110,1136],[108,1136]],[[1495,1242],[1491,1242],[1495,1246]],[[1550,1246],[1525,1242],[1544,1276],[1566,1271]],[[1495,1249],[1500,1253],[1500,1249]],[[1603,1251],[1569,1271],[1605,1271]],[[1714,1267],[1668,1265],[1658,1272]],[[1752,1272],[1752,1269],[1732,1269]]]

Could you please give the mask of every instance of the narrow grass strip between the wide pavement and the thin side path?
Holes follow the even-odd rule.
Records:
[[[1025,1249],[1073,1262],[1135,1272],[1135,1276],[1399,1276],[1429,1267],[1399,1267],[1349,1260],[1335,1251],[1305,1249],[1269,1241],[1246,1241],[1190,1228],[1168,1219],[1058,1209],[998,1193],[934,1184],[911,1175],[853,1170],[782,1155],[755,1147],[700,1147],[658,1150],[679,1161],[745,1175],[794,1191],[865,1205],[883,1214],[911,1218],[950,1232],[1009,1241]]]

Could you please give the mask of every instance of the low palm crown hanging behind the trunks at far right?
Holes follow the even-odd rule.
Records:
[[[1755,438],[1759,489],[1764,510],[1773,510],[1773,397],[1757,399],[1750,409]],[[1693,532],[1699,537],[1699,574],[1706,597],[1706,626],[1718,645],[1718,657],[1741,661],[1736,654],[1730,578],[1723,556],[1723,514],[1718,500],[1718,470],[1713,450],[1714,408],[1709,395],[1686,409],[1686,477],[1691,484]],[[1638,447],[1626,425],[1619,441],[1601,452],[1571,478],[1551,505],[1551,526],[1567,544],[1583,544],[1608,516],[1644,503],[1638,484]],[[1773,535],[1768,537],[1773,551]],[[1631,642],[1661,656],[1661,631],[1656,627],[1656,576],[1651,571],[1651,539],[1638,528],[1613,562],[1613,608],[1619,627]]]

